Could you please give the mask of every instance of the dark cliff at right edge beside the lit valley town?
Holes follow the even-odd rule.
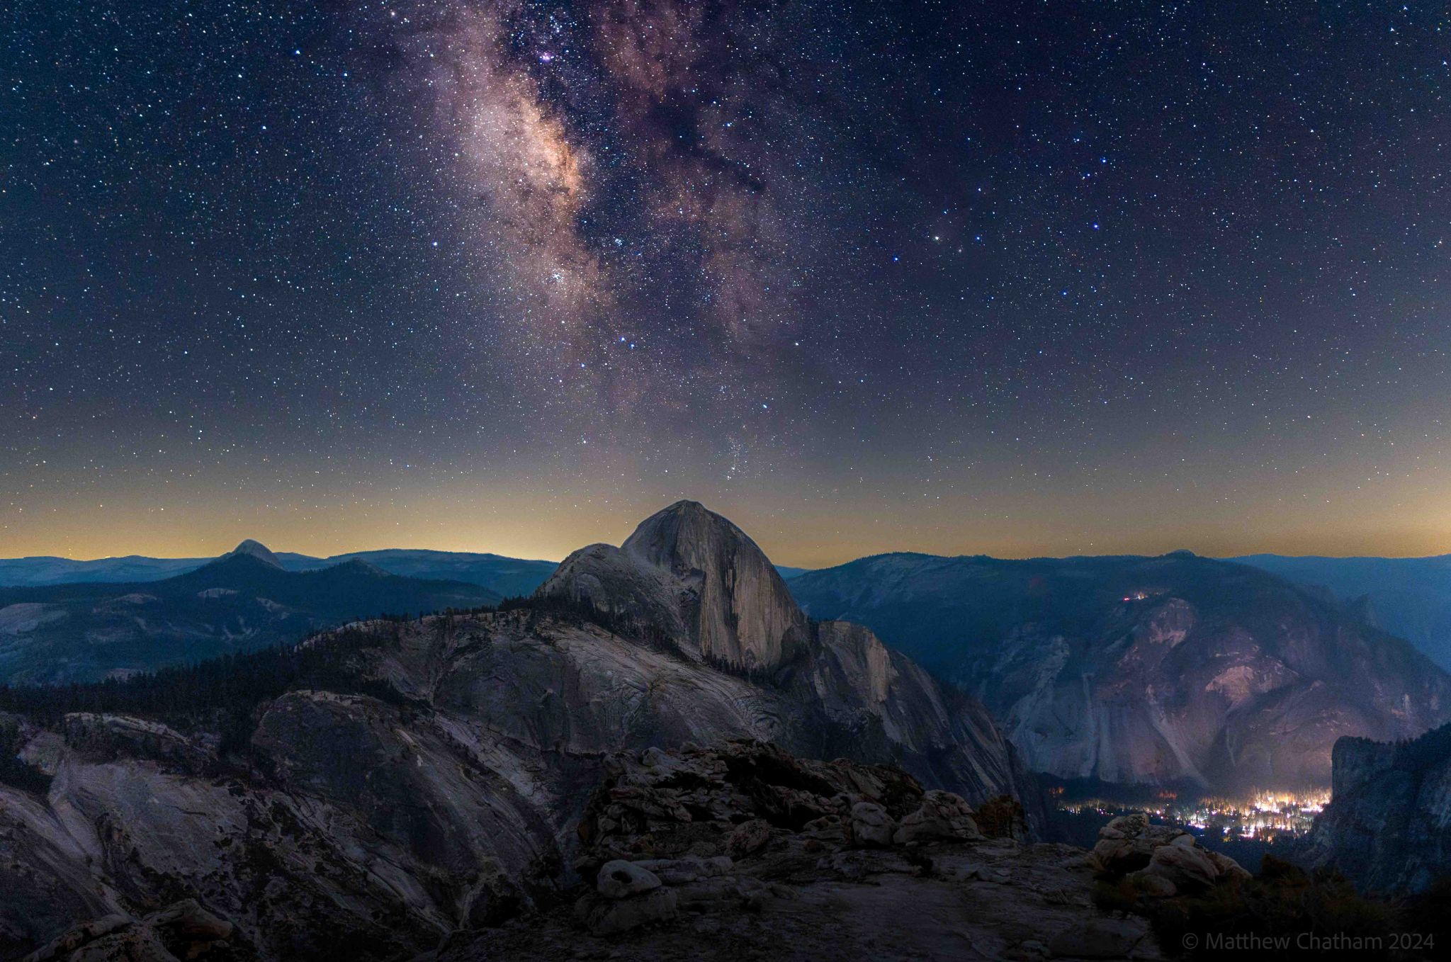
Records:
[[[1310,833],[1313,863],[1380,891],[1451,875],[1451,725],[1399,744],[1341,739],[1333,785]]]

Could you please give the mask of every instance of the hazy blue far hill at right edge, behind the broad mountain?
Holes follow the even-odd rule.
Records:
[[[1436,557],[1287,557],[1246,554],[1299,585],[1323,588],[1371,624],[1406,638],[1451,670],[1451,554]]]

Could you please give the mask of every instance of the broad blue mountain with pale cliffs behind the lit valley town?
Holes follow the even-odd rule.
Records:
[[[1322,592],[1177,551],[881,554],[788,582],[981,698],[1036,770],[1325,785],[1335,739],[1451,718],[1451,678]]]

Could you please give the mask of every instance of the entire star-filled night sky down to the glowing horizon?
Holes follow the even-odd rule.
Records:
[[[1439,3],[19,0],[0,556],[1451,551]]]

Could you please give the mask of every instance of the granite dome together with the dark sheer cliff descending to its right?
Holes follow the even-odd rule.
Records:
[[[651,515],[620,548],[576,551],[538,595],[588,604],[686,660],[766,681],[746,686],[753,698],[731,702],[769,695],[753,737],[807,756],[856,752],[871,760],[891,753],[932,785],[974,799],[1024,794],[1030,813],[1042,814],[1036,789],[1017,791],[1029,779],[979,702],[942,688],[862,625],[808,622],[756,543],[695,502]],[[628,675],[624,665],[612,670],[612,678]],[[763,727],[762,718],[772,723]],[[1014,788],[1001,788],[1007,785]]]

